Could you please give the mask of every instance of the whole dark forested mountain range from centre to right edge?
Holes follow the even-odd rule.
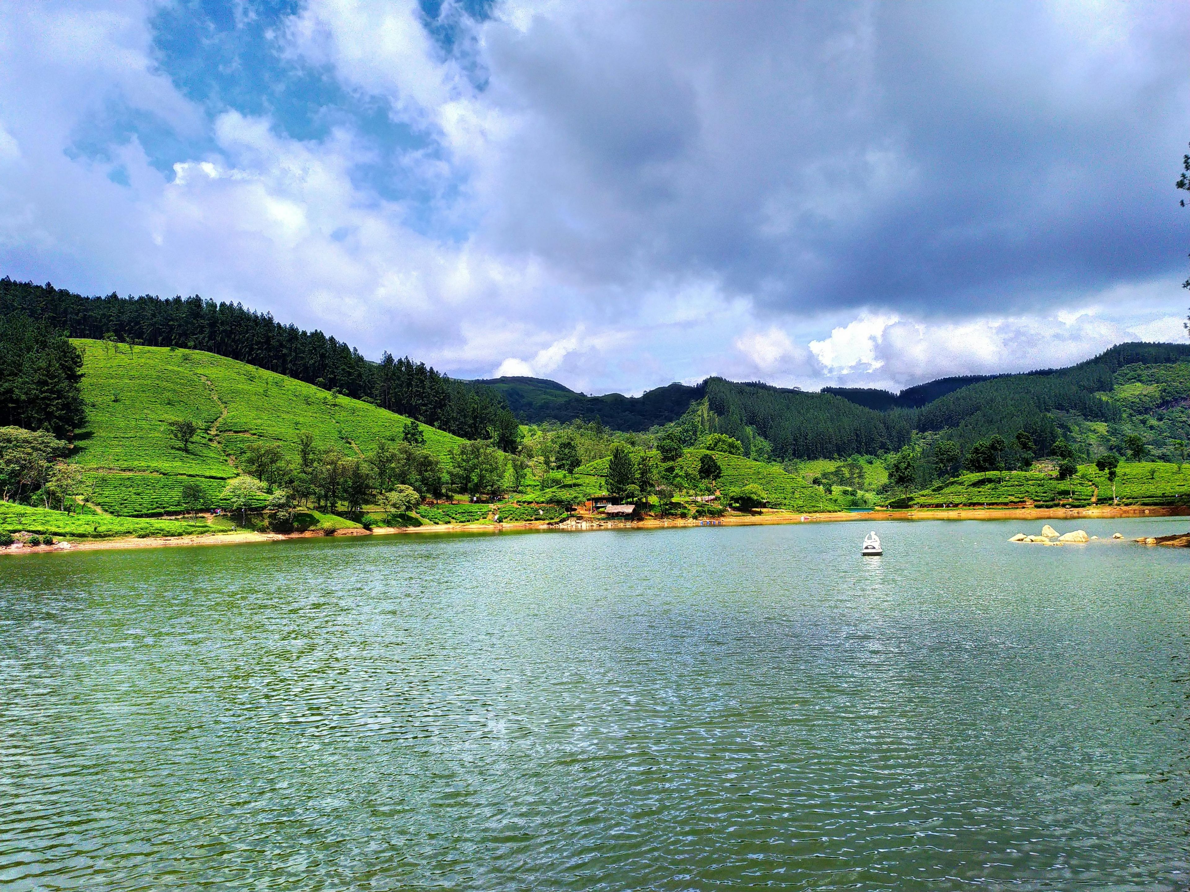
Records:
[[[1169,453],[1184,439],[1177,433],[1183,415],[1190,421],[1188,363],[1188,344],[1120,344],[1066,369],[939,378],[900,394],[871,388],[814,394],[722,378],[670,384],[639,397],[584,396],[541,378],[480,383],[500,392],[525,422],[584,417],[619,431],[672,426],[690,445],[724,433],[751,457],[876,454],[901,448],[915,431],[953,439],[964,450],[992,434],[1013,441],[1025,431],[1038,456],[1059,436],[1119,451],[1127,434],[1138,434]]]

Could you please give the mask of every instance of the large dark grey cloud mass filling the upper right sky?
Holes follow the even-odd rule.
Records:
[[[778,312],[1036,307],[1172,274],[1190,5],[631,4],[487,29],[524,123],[482,235]]]

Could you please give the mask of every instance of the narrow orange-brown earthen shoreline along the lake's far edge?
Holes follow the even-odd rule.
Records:
[[[714,526],[756,527],[778,523],[840,523],[848,521],[913,521],[913,520],[1078,520],[1110,517],[1177,517],[1190,516],[1186,505],[1091,505],[1089,508],[903,508],[872,511],[826,511],[822,514],[798,514],[785,510],[762,510],[758,514],[719,517]],[[607,520],[596,516],[571,516],[557,523],[518,521],[513,523],[426,523],[420,527],[374,527],[365,529],[339,529],[333,536],[408,535],[418,533],[500,533],[503,530],[537,532],[595,532],[601,529],[662,529],[666,527],[700,527],[710,521],[682,519]],[[133,548],[169,548],[195,545],[250,545],[280,542],[290,539],[325,539],[325,533],[207,533],[184,536],[126,536],[114,539],[63,538],[54,545],[8,546],[0,554],[45,554],[49,552],[114,551]]]

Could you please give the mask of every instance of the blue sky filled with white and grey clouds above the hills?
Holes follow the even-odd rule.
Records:
[[[0,274],[459,377],[1185,340],[1190,0],[0,0]]]

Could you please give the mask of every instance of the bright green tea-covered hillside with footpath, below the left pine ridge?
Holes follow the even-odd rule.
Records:
[[[226,480],[255,440],[298,458],[298,434],[319,448],[364,454],[400,440],[402,415],[349,396],[198,350],[73,341],[83,353],[82,394],[88,429],[71,454],[89,473],[94,503],[120,515],[182,509],[182,485],[198,483],[219,504]],[[200,433],[184,451],[167,421],[188,419]],[[462,440],[422,427],[439,456]]]

